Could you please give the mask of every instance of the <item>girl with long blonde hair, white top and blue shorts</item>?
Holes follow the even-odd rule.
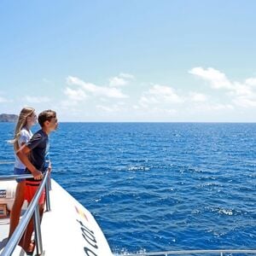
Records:
[[[19,119],[15,128],[15,137],[11,141],[14,144],[15,152],[32,137],[30,130],[32,125],[37,123],[37,115],[34,108],[22,108]],[[15,174],[25,174],[26,166],[20,161],[15,154]],[[19,224],[21,207],[24,202],[25,195],[25,179],[17,179],[17,187],[15,192],[15,201],[10,212],[9,237],[15,231]]]

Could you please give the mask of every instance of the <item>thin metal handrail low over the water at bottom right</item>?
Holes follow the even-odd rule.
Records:
[[[117,254],[116,256],[168,256],[168,255],[188,255],[188,254],[207,254],[207,253],[213,253],[223,256],[224,253],[255,253],[256,249],[252,250],[243,250],[243,249],[237,249],[237,250],[181,250],[181,251],[166,251],[166,252],[154,252],[154,253],[125,253],[125,254]]]

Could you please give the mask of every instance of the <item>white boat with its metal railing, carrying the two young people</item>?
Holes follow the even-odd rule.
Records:
[[[3,212],[1,212],[3,214],[0,219],[1,256],[26,255],[17,244],[33,214],[37,244],[34,255],[38,253],[45,256],[113,256],[108,241],[92,214],[53,179],[51,179],[51,190],[49,191],[49,172],[46,172],[37,194],[27,210],[23,211],[20,224],[8,241],[9,216],[6,214],[6,210],[8,208],[10,210],[12,207],[16,182],[6,180],[14,178],[16,177],[2,177],[2,180],[0,178],[0,206],[3,206]],[[44,187],[46,187],[47,195],[46,209],[40,225],[37,202]]]

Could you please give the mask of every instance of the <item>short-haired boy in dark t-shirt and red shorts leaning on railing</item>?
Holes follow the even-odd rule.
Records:
[[[46,164],[46,157],[49,151],[48,135],[51,131],[55,131],[58,126],[55,111],[45,110],[39,113],[38,123],[41,126],[41,130],[37,131],[31,140],[16,152],[20,160],[25,164],[27,173],[32,173],[33,176],[33,178],[26,179],[25,199],[28,203],[32,201],[43,178],[43,173],[47,168],[51,169],[51,166]],[[41,218],[44,212],[44,196],[43,192],[38,201]],[[31,220],[24,233],[23,242],[20,242],[26,253],[32,253],[33,251],[33,245],[31,244],[32,231],[33,224]]]

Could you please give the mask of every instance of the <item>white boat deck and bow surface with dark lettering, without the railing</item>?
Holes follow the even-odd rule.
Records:
[[[49,198],[50,211],[44,212],[41,223],[44,255],[113,256],[95,218],[53,179],[51,179]],[[9,218],[2,218],[0,219],[1,248],[8,241],[8,233]],[[21,248],[15,251],[12,255],[26,255]]]

